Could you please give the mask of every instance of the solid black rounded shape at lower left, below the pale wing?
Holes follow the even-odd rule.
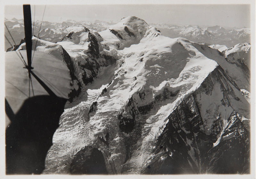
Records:
[[[6,129],[6,174],[40,174],[66,99],[31,97]],[[6,108],[6,110],[8,110]]]

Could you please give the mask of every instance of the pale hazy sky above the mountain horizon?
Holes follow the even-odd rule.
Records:
[[[36,5],[35,19],[41,20],[44,5]],[[34,5],[31,5],[32,20]],[[22,6],[5,6],[7,19],[23,18]],[[127,4],[127,5],[46,5],[44,20],[62,22],[73,20],[119,21],[123,17],[137,16],[147,23],[199,25],[224,27],[250,27],[250,5],[244,4]]]

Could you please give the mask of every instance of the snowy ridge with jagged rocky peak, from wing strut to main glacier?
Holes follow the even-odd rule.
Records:
[[[69,70],[76,81],[71,84],[77,89],[77,96],[81,91],[79,83],[93,81],[101,67],[115,63],[115,58],[101,52],[103,51],[100,41],[102,38],[97,32],[84,27],[79,32],[72,32],[62,38],[62,41],[52,43],[32,37],[32,48],[64,60],[69,64]],[[36,45],[36,47],[35,47]],[[23,43],[17,50],[26,49]],[[78,87],[78,86],[80,87]],[[79,88],[79,89],[78,89]]]

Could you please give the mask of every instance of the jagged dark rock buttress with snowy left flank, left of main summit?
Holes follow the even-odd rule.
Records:
[[[100,45],[102,38],[100,34],[93,30],[84,27],[84,29],[79,32],[69,33],[61,40],[61,42],[68,41],[73,42],[74,44],[60,44],[66,48],[67,52],[70,54],[75,66],[74,73],[78,78],[78,81],[81,81],[84,85],[93,81],[93,78],[97,76],[100,67],[105,67],[116,62],[114,57],[100,53],[103,51],[103,48]],[[76,45],[81,47],[81,51],[72,51],[72,47],[75,47]]]

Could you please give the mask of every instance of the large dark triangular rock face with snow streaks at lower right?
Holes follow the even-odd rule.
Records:
[[[220,98],[216,93],[219,87],[222,99],[214,102],[218,108],[211,111],[213,98]],[[214,70],[170,114],[157,139],[154,157],[143,173],[250,173],[250,136],[237,116],[239,109],[232,105],[234,101],[245,102],[236,96],[237,90],[220,67]],[[204,105],[210,107],[207,116]]]

